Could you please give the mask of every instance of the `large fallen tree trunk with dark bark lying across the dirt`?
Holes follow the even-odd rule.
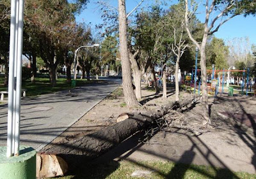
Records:
[[[97,132],[86,136],[79,136],[70,140],[67,143],[61,143],[60,145],[54,145],[47,150],[41,152],[41,154],[58,155],[68,163],[68,166],[75,167],[77,161],[90,161],[95,157],[98,157],[105,152],[108,152],[111,148],[118,145],[122,141],[126,140],[132,134],[147,129],[148,126],[154,124],[157,118],[161,118],[168,113],[168,110],[177,110],[189,108],[191,104],[196,103],[200,97],[192,97],[185,101],[179,101],[169,103],[165,106],[161,106],[156,111],[146,111],[145,113],[127,114],[129,118],[118,122],[117,124],[100,129]]]

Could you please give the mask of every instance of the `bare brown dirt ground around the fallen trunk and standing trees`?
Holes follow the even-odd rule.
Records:
[[[121,87],[97,104],[84,117],[63,132],[47,148],[61,145],[72,138],[95,132],[102,127],[114,125],[120,113],[150,110],[175,99],[174,89],[168,89],[168,98],[154,90],[142,90],[141,108],[127,108]],[[181,92],[186,99],[188,92]],[[256,173],[256,97],[227,94],[209,98],[211,127],[200,127],[200,103],[180,115],[179,127],[168,132],[160,131],[150,140],[140,143],[143,132],[138,132],[118,147],[100,156],[97,161],[174,161],[203,164],[233,171]],[[188,127],[189,126],[189,127]],[[85,128],[84,128],[85,127]],[[83,129],[83,130],[82,130]]]

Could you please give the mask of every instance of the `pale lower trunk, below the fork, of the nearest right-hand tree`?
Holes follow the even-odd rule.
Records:
[[[202,79],[202,116],[205,121],[204,124],[211,124],[209,116],[208,93],[207,93],[207,71],[206,71],[206,57],[205,45],[207,43],[207,34],[205,32],[200,49],[200,66],[201,66],[201,79]]]

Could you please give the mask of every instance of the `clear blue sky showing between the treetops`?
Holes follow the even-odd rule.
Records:
[[[76,17],[77,22],[86,22],[92,23],[92,25],[102,23],[100,17],[100,11],[98,5],[95,4],[99,0],[91,0],[87,4],[86,9],[81,12],[80,15]],[[106,0],[105,0],[106,1]],[[140,0],[127,0],[127,12],[131,11]],[[143,3],[144,8],[147,8],[151,3],[154,3],[154,0],[146,0]],[[117,0],[109,0],[109,4],[117,7]],[[204,14],[197,15],[198,19],[203,21]],[[222,39],[232,39],[232,38],[244,38],[248,37],[251,43],[256,44],[256,17],[252,15],[248,17],[243,17],[243,15],[237,16],[223,24],[219,31],[214,33],[217,38]]]

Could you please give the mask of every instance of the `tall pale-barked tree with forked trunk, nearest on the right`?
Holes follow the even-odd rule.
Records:
[[[189,5],[192,7],[189,10]],[[209,104],[208,104],[208,94],[207,94],[207,71],[206,71],[206,56],[205,56],[205,46],[209,35],[217,32],[218,29],[225,22],[230,20],[237,15],[251,13],[252,10],[255,11],[256,4],[249,0],[206,0],[205,1],[205,20],[204,20],[204,35],[202,41],[196,41],[191,34],[191,29],[189,29],[189,19],[195,14],[197,9],[197,4],[195,1],[185,0],[185,21],[186,21],[186,31],[188,36],[200,50],[200,66],[202,75],[202,116],[204,117],[203,125],[211,124],[209,116]],[[217,15],[216,15],[217,14]],[[210,18],[210,15],[212,17]],[[215,15],[215,16],[214,16]],[[211,20],[211,22],[210,22]]]

